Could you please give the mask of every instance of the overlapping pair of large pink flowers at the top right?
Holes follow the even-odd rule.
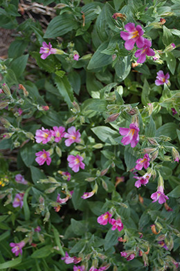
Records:
[[[135,26],[134,23],[128,23],[125,25],[125,31],[120,32],[120,37],[125,40],[125,49],[132,50],[134,48],[134,44],[138,47],[138,50],[134,54],[136,58],[138,58],[137,63],[145,62],[146,55],[154,56],[155,53],[150,47],[152,43],[150,40],[145,39],[143,37],[144,31],[143,28],[138,25]]]

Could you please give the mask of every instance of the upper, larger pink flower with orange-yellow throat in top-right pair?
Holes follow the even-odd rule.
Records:
[[[125,49],[132,50],[134,44],[138,46],[138,48],[143,48],[144,38],[141,37],[144,33],[142,27],[140,25],[135,27],[134,23],[128,23],[125,25],[125,31],[120,32],[120,37],[125,40]]]

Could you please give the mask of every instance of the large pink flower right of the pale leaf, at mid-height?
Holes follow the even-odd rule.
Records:
[[[123,145],[131,143],[131,147],[134,148],[139,141],[138,132],[139,128],[134,123],[131,123],[129,128],[119,128],[119,133],[123,136],[125,135],[121,143],[123,143]]]

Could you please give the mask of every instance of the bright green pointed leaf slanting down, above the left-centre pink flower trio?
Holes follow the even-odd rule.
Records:
[[[64,76],[63,78],[55,77],[55,84],[57,89],[60,91],[60,94],[64,98],[65,102],[69,107],[72,107],[72,102],[74,100],[73,97],[73,89],[70,85],[69,80]]]

